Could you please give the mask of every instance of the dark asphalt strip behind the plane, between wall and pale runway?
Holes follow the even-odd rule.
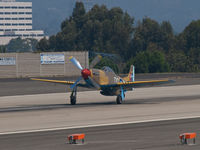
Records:
[[[75,81],[78,77],[49,77],[48,79]],[[161,86],[197,85],[200,84],[200,73],[163,73],[163,74],[136,74],[137,80],[172,79],[175,83]],[[91,89],[78,88],[78,91]],[[44,93],[69,92],[69,87],[61,84],[32,81],[30,78],[0,79],[0,96],[30,95]]]

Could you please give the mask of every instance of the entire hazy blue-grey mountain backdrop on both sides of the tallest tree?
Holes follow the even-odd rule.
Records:
[[[75,0],[17,0],[33,2],[33,28],[47,35],[60,30],[61,22],[72,14]],[[83,0],[84,1],[84,0]],[[87,0],[85,0],[87,1]],[[181,32],[192,20],[200,19],[199,0],[89,0],[108,8],[121,7],[137,20],[145,16],[159,22],[170,21],[175,32]]]

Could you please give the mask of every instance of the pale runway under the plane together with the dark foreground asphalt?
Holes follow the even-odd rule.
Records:
[[[122,105],[87,91],[71,106],[69,95],[0,97],[0,149],[199,149],[198,139],[195,146],[178,144],[180,133],[200,132],[198,84],[135,89]],[[84,145],[66,144],[79,132],[87,135]]]

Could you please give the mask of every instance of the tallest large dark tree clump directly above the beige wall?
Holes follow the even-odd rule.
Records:
[[[103,51],[126,56],[133,22],[134,19],[119,7],[108,10],[105,5],[95,5],[86,13],[83,3],[77,2],[72,16],[61,24],[61,32],[48,41],[39,42],[38,49]]]

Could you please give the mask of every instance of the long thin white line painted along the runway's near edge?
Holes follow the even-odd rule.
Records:
[[[149,123],[149,122],[160,122],[160,121],[174,121],[174,120],[197,119],[197,118],[200,118],[200,116],[153,119],[153,120],[141,120],[141,121],[118,122],[118,123],[108,123],[108,124],[93,124],[93,125],[85,125],[85,126],[71,126],[71,127],[60,127],[60,128],[58,127],[58,128],[37,129],[37,130],[27,130],[27,131],[2,132],[2,133],[0,133],[0,135],[48,132],[48,131],[59,131],[59,130],[69,130],[69,129],[81,129],[81,128],[91,128],[91,127],[104,127],[104,126],[137,124],[137,123]]]

